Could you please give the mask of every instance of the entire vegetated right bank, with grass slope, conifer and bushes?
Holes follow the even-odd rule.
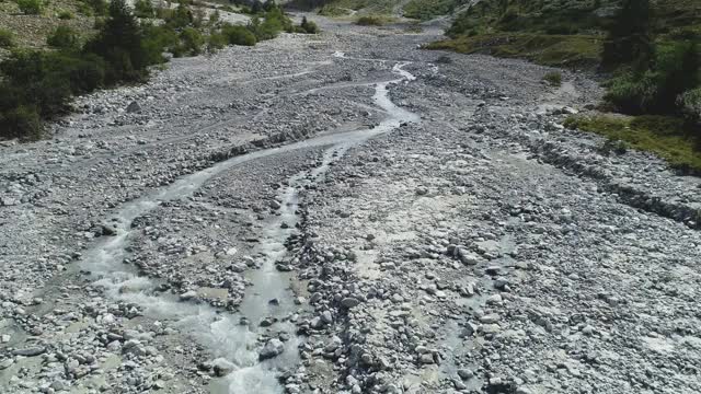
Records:
[[[701,169],[701,1],[483,0],[446,34],[427,47],[605,71],[604,108],[634,117],[578,117],[568,126]],[[559,85],[558,77],[545,80]]]

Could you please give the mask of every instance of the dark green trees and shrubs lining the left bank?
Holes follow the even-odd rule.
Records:
[[[91,13],[101,14],[103,0],[84,0]],[[280,32],[318,32],[302,21],[294,26],[274,2],[265,3],[248,26],[219,24],[204,12],[193,12],[185,0],[174,10],[148,11],[163,23],[139,21],[125,0],[112,0],[106,18],[95,19],[96,34],[81,45],[79,34],[66,25],[47,39],[53,50],[13,49],[0,63],[0,138],[32,140],[42,137],[42,124],[69,111],[72,95],[148,78],[150,66],[163,63],[163,53],[195,56],[214,53],[227,44],[255,45]],[[207,22],[207,23],[206,23]],[[0,45],[12,46],[12,33],[0,30]]]

